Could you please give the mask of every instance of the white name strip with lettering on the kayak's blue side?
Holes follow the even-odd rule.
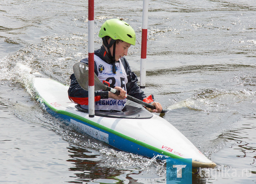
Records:
[[[92,128],[90,126],[84,125],[76,120],[70,119],[70,122],[79,128],[81,128],[85,133],[87,133],[89,136],[98,139],[100,141],[103,141],[105,143],[109,143],[109,134],[102,132],[100,130],[97,130],[95,128]]]

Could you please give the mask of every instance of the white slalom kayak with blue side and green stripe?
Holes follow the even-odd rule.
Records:
[[[19,67],[31,71],[24,65],[19,64]],[[216,166],[170,122],[143,107],[126,105],[122,112],[95,111],[95,116],[89,117],[88,110],[69,100],[69,86],[45,78],[38,72],[33,75],[33,86],[39,99],[48,107],[48,112],[67,120],[97,140],[149,158],[169,157],[193,167]]]

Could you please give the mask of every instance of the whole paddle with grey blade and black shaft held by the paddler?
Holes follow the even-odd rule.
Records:
[[[85,63],[82,62],[78,62],[76,64],[73,65],[73,71],[74,71],[74,75],[77,79],[78,84],[84,89],[88,91],[88,72],[89,72],[89,66]],[[115,93],[117,95],[119,95],[119,91],[113,88],[110,88],[106,85],[104,85],[97,77],[97,75],[94,73],[94,90],[98,91],[98,90],[106,90],[106,91],[110,91],[112,93]],[[131,100],[133,102],[136,102],[138,104],[141,104],[145,107],[148,107],[150,109],[156,109],[155,106],[148,104],[146,102],[143,102],[139,99],[136,99],[130,95],[127,95],[126,99]],[[166,110],[162,110],[161,113],[165,113],[167,112]]]

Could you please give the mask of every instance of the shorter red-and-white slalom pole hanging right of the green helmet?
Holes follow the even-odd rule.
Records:
[[[140,88],[145,88],[146,86],[147,18],[148,18],[148,0],[143,0]]]

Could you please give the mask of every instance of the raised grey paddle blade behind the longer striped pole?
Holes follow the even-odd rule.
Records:
[[[78,84],[88,91],[88,76],[89,76],[89,66],[85,63],[78,62],[73,65],[74,75],[77,79]],[[97,75],[94,73],[94,90],[105,90],[106,86],[100,82]]]

